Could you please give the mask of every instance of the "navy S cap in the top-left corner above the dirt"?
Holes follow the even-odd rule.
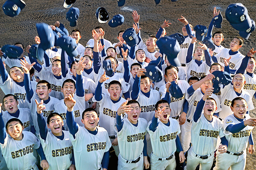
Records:
[[[20,11],[26,6],[22,0],[7,0],[3,5],[5,15],[15,17],[19,15]]]

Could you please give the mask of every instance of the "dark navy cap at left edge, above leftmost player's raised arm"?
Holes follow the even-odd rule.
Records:
[[[15,45],[4,45],[1,49],[9,58],[19,58],[23,49]]]

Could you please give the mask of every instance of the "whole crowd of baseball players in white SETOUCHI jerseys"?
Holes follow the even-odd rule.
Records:
[[[214,8],[213,17],[218,14]],[[181,66],[172,66],[156,46],[170,23],[165,20],[156,36],[143,43],[140,15],[133,11],[132,17],[139,43],[127,45],[128,50],[123,48],[123,30],[117,34],[119,42],[112,44],[104,39],[103,28],[96,27],[86,47],[79,43],[80,31],[72,30],[75,61],[55,47],[45,51],[40,65],[29,54],[31,46],[25,49],[21,43],[15,46],[28,56],[0,59],[0,88],[5,93],[0,106],[6,110],[0,114],[0,169],[36,170],[39,155],[43,169],[106,170],[111,147],[120,170],[173,170],[175,156],[182,163],[186,152],[187,170],[198,164],[210,170],[214,159],[215,170],[245,169],[248,141],[249,153],[254,152],[256,119],[249,111],[256,94],[256,51],[241,54],[241,37],[224,48],[224,35],[212,34],[213,20],[207,36],[215,50],[208,49],[196,43],[192,25],[181,17]],[[57,21],[51,27],[59,26]],[[40,43],[38,36],[35,41]],[[157,59],[164,78],[152,82],[145,67]],[[102,67],[104,60],[111,61],[111,75]],[[5,65],[11,68],[9,73]],[[233,75],[232,83],[221,85],[214,94],[213,72],[223,70]],[[169,91],[173,83],[182,97]]]

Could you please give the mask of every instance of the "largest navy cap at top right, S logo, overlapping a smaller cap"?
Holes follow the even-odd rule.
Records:
[[[225,17],[230,25],[238,31],[246,31],[252,27],[252,21],[248,15],[248,11],[241,3],[228,5]]]

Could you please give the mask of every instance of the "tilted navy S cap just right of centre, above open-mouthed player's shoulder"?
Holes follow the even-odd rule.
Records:
[[[145,67],[145,69],[145,75],[155,82],[161,81],[164,78],[164,73],[157,66],[150,65]]]

